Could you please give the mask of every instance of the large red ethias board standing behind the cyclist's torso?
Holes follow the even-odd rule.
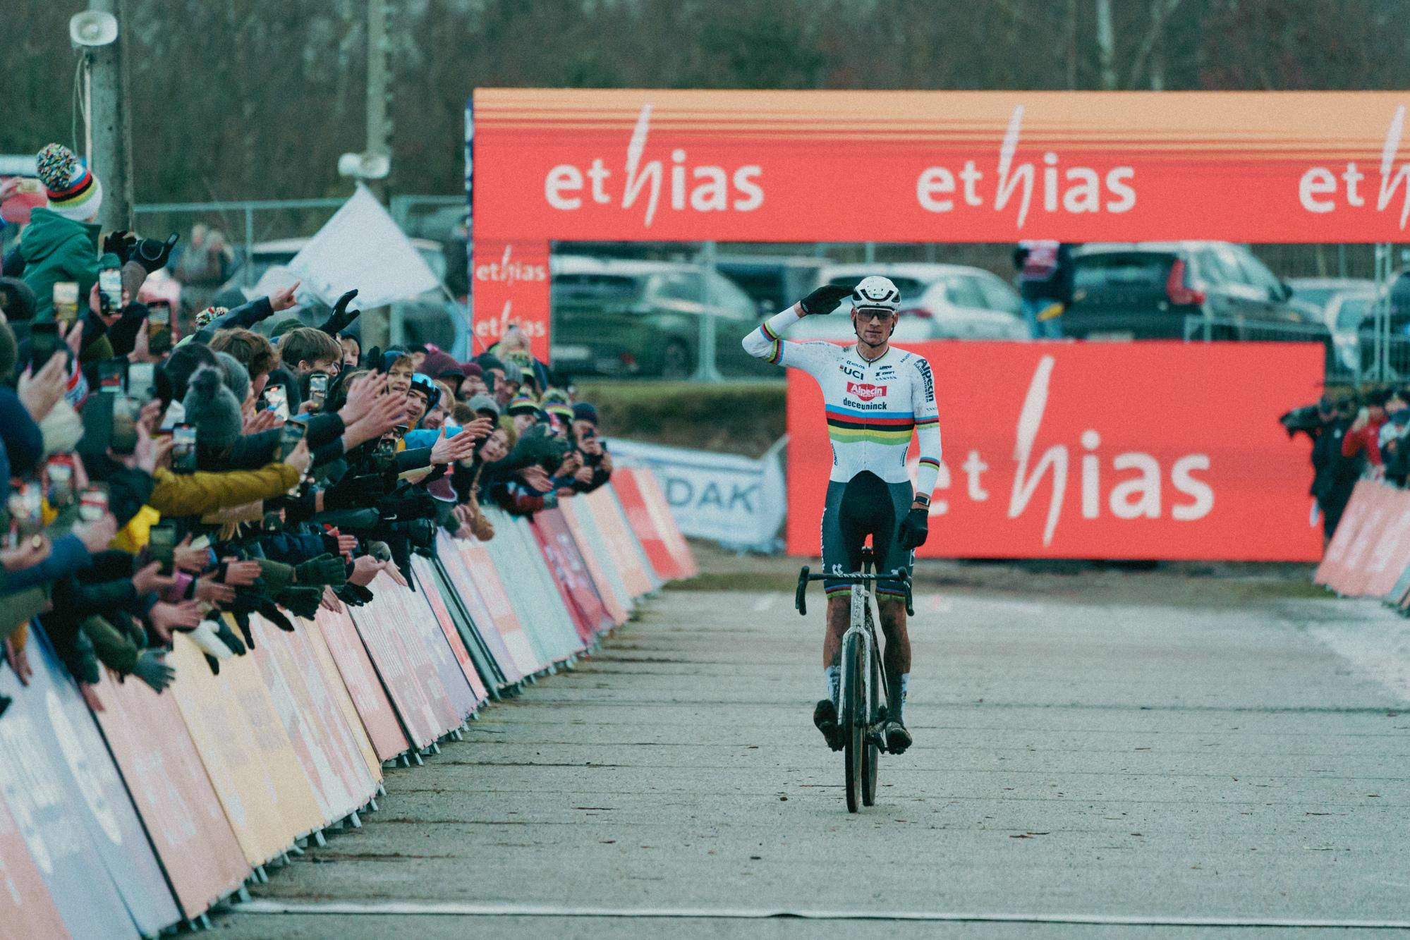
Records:
[[[925,342],[946,558],[1316,561],[1310,447],[1277,416],[1321,393],[1324,351],[1272,342]],[[832,448],[788,372],[788,551],[818,555]],[[912,440],[912,479],[918,459]]]

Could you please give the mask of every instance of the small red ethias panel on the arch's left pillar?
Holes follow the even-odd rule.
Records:
[[[510,324],[529,337],[537,359],[548,361],[548,242],[475,238],[470,269],[474,351],[503,338]]]

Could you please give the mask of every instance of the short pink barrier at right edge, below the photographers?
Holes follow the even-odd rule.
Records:
[[[1313,581],[1410,609],[1410,490],[1359,481]]]

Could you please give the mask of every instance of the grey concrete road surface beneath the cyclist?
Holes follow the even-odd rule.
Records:
[[[1410,922],[1407,621],[1144,578],[1114,600],[1080,576],[918,596],[916,744],[860,815],[811,724],[821,595],[804,621],[783,590],[668,590],[577,671],[389,771],[362,830],[217,929],[1184,940]]]

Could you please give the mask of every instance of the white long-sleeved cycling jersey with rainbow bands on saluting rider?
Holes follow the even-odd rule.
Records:
[[[867,361],[856,344],[784,340],[784,330],[798,320],[797,304],[776,313],[752,330],[743,345],[752,357],[802,369],[818,381],[832,438],[828,479],[845,483],[871,471],[888,483],[909,482],[905,451],[914,431],[921,438],[915,492],[929,496],[940,472],[940,419],[931,364],[895,347]]]

